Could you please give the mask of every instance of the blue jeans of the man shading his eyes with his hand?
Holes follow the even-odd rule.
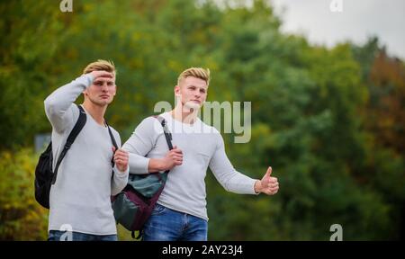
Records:
[[[62,237],[62,235],[64,236]],[[50,230],[48,241],[118,241],[118,237],[117,235],[99,236],[79,232]]]

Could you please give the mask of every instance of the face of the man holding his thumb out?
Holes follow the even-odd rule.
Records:
[[[207,93],[207,83],[194,76],[187,76],[179,85],[175,85],[175,96],[180,98],[182,105],[187,109],[200,109],[207,98]]]

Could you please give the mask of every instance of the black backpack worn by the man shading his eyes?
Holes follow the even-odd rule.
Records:
[[[62,162],[63,157],[65,157],[67,150],[69,150],[75,141],[80,130],[85,126],[85,121],[87,119],[85,110],[80,105],[77,105],[77,107],[79,109],[79,118],[76,121],[75,127],[70,131],[65,147],[63,147],[63,150],[58,157],[58,162],[55,166],[55,173],[52,172],[52,142],[50,142],[47,149],[40,154],[38,165],[35,168],[35,200],[46,209],[49,209],[50,187],[57,180],[58,167]]]

